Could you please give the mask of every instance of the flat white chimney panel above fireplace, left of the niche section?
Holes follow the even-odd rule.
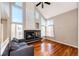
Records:
[[[34,30],[35,29],[35,14],[34,14],[34,4],[29,2],[26,3],[26,22],[24,22],[25,30]]]

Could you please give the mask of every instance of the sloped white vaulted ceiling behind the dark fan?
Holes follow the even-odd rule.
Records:
[[[36,8],[46,19],[49,19],[51,17],[76,9],[77,3],[76,2],[51,2],[51,5],[44,4],[44,8],[42,8],[41,5],[39,5]]]

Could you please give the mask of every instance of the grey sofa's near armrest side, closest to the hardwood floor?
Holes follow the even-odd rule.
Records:
[[[34,47],[31,46],[22,46],[17,50],[11,51],[10,56],[34,56]]]

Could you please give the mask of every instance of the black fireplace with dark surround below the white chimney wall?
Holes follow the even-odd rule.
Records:
[[[40,40],[41,30],[24,30],[24,38],[28,42]]]

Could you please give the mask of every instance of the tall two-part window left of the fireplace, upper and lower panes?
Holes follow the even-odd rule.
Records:
[[[12,38],[23,38],[23,9],[22,3],[17,2],[12,5]]]

